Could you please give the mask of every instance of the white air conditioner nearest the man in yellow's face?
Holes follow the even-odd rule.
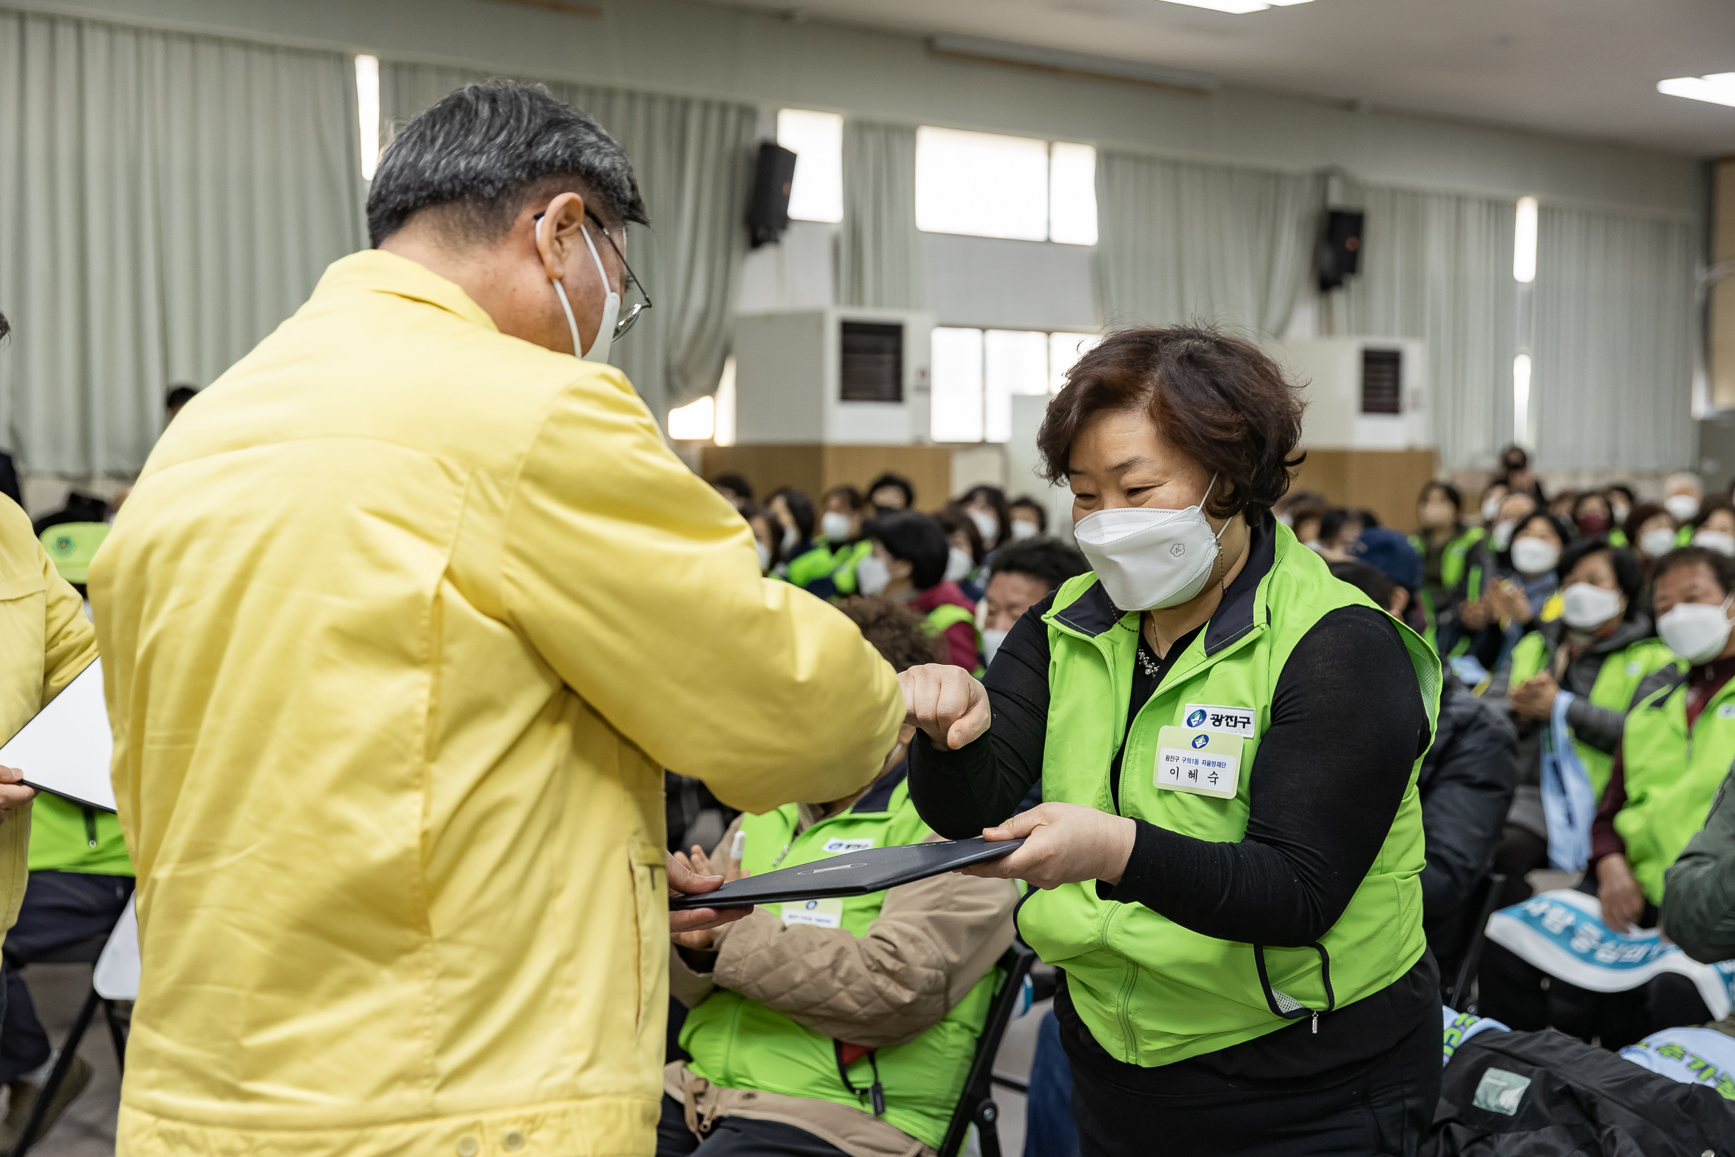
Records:
[[[926,442],[932,333],[897,309],[736,317],[736,444]]]

